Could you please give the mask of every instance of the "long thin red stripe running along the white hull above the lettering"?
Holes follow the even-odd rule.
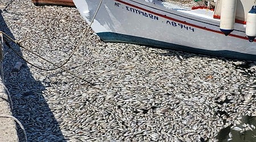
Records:
[[[210,28],[201,27],[201,26],[197,26],[197,25],[195,25],[195,24],[191,24],[191,23],[187,23],[187,22],[184,22],[184,21],[181,21],[181,20],[177,20],[177,19],[168,17],[168,16],[166,16],[166,15],[162,15],[162,14],[159,14],[159,13],[156,13],[156,12],[153,12],[153,11],[150,11],[150,10],[147,10],[147,9],[143,9],[142,7],[135,6],[135,5],[131,4],[131,3],[123,2],[123,1],[121,1],[121,0],[114,0],[114,1],[121,2],[121,3],[125,4],[125,5],[135,7],[136,9],[140,9],[140,10],[143,10],[143,11],[146,11],[146,12],[150,12],[151,14],[161,16],[162,18],[166,18],[166,19],[169,19],[169,20],[173,20],[173,21],[175,21],[175,22],[179,22],[179,23],[186,24],[186,25],[188,25],[188,26],[192,26],[192,27],[200,28],[200,29],[202,29],[202,30],[206,30],[206,31],[210,31],[210,32],[215,32],[215,33],[224,35],[224,33],[221,32],[221,31],[216,31],[216,30],[212,30],[212,29],[210,29]],[[237,38],[239,38],[239,39],[248,40],[248,38],[247,38],[246,36],[239,36],[239,35],[234,35],[234,34],[229,34],[229,36],[237,37]],[[256,41],[256,39],[254,40],[254,42],[255,42],[255,41]]]

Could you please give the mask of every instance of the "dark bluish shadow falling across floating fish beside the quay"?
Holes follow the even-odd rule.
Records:
[[[8,28],[0,10],[0,31],[5,32],[14,39],[14,35]],[[20,48],[9,43],[22,55]],[[13,115],[23,124],[28,141],[66,141],[59,128],[59,123],[49,108],[42,91],[46,88],[40,81],[36,81],[30,72],[26,62],[19,72],[11,72],[17,61],[22,61],[11,49],[5,45],[5,58],[3,70],[5,85],[10,92],[13,101]],[[18,128],[19,141],[24,141],[24,135]]]

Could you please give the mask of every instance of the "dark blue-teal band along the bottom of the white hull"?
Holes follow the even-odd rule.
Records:
[[[162,48],[168,48],[168,49],[174,49],[174,50],[180,50],[180,51],[188,51],[193,53],[202,53],[205,55],[256,61],[256,55],[250,55],[250,54],[234,52],[234,51],[226,51],[226,50],[210,51],[205,49],[187,47],[187,46],[178,45],[178,44],[166,43],[158,40],[146,39],[138,36],[117,34],[114,32],[100,32],[100,33],[97,33],[97,35],[100,36],[103,41],[150,45],[153,47],[162,47]]]

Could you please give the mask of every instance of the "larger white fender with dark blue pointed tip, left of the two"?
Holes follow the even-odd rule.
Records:
[[[225,0],[221,3],[220,30],[227,36],[234,30],[237,0]]]

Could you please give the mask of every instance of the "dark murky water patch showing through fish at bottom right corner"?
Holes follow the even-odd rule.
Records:
[[[242,125],[250,124],[256,126],[256,116],[243,116],[243,119],[241,120],[241,124],[237,127],[244,128]],[[230,138],[229,133],[232,133],[232,138]],[[219,142],[221,141],[230,141],[230,142],[243,142],[243,141],[250,141],[255,142],[256,141],[256,130],[253,129],[253,131],[245,131],[240,133],[239,131],[233,130],[231,127],[226,127],[223,130],[220,131],[219,135],[217,136],[217,139]]]

